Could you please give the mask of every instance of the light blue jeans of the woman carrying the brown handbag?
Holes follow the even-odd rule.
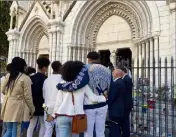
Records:
[[[72,117],[57,117],[56,126],[60,137],[79,137],[77,134],[72,134]]]

